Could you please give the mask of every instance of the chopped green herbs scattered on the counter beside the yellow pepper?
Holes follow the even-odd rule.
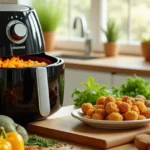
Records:
[[[37,135],[33,135],[31,137],[29,137],[28,146],[39,146],[39,147],[53,147],[57,144],[58,142],[55,140],[48,140],[48,139],[44,139],[42,137],[39,137]]]

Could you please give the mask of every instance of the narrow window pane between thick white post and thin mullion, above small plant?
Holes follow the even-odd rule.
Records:
[[[128,0],[108,0],[108,18],[116,20],[120,28],[119,41],[128,39]]]

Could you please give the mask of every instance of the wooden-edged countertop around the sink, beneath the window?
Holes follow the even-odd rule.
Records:
[[[84,55],[75,51],[53,51],[47,54],[68,54]],[[66,68],[103,71],[120,74],[137,74],[143,76],[150,75],[150,62],[144,60],[142,56],[118,55],[115,57],[105,57],[102,53],[93,53],[92,56],[100,58],[90,60],[64,59]]]

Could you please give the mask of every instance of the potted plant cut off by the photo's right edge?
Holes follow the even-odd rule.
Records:
[[[150,61],[150,37],[141,38],[141,50],[146,61]]]

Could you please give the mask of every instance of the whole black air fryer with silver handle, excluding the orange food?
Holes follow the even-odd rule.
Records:
[[[44,53],[35,10],[0,4],[0,57],[19,56],[48,63],[45,67],[0,68],[0,114],[21,124],[47,118],[63,103],[64,61]]]

